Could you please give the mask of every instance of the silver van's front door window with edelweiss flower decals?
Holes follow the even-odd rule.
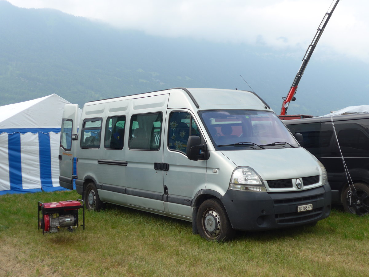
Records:
[[[186,154],[189,136],[200,136],[196,122],[187,112],[172,112],[169,115],[168,148]]]

